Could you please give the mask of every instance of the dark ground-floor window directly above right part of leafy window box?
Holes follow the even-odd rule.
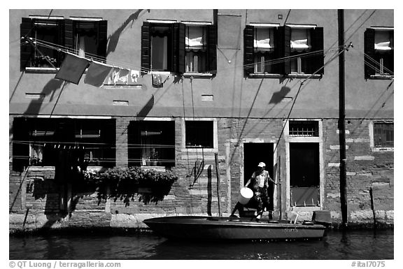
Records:
[[[130,122],[129,166],[175,166],[175,122]]]

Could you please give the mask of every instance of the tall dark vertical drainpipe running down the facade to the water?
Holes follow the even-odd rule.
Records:
[[[337,10],[339,22],[339,144],[340,144],[340,206],[342,225],[347,226],[346,182],[346,109],[344,68],[344,9]]]

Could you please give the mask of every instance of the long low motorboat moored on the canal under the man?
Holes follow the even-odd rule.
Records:
[[[172,216],[143,222],[162,237],[177,240],[320,239],[326,228],[315,221],[257,221],[250,217]]]

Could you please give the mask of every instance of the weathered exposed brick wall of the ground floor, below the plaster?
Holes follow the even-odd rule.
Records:
[[[116,119],[117,145],[127,143],[127,126],[132,117]],[[220,212],[228,215],[237,201],[243,173],[243,148],[246,141],[274,143],[283,128],[282,119],[217,119],[218,162],[220,173]],[[214,150],[199,153],[182,148],[181,119],[175,121],[176,166],[178,180],[157,203],[144,203],[146,194],[134,194],[129,203],[120,198],[99,199],[97,193],[72,193],[71,214],[59,210],[60,186],[55,170],[30,168],[27,173],[10,173],[10,228],[142,226],[142,219],[160,215],[217,215],[217,175]],[[351,119],[347,124],[347,199],[352,223],[393,222],[393,152],[372,152],[369,147],[369,120]],[[341,221],[339,189],[339,133],[336,119],[323,120],[323,159],[325,166],[323,209],[330,210],[335,222]],[[285,160],[285,141],[281,138],[278,155]],[[127,166],[127,147],[117,149],[117,166]],[[204,163],[201,161],[204,160]],[[199,176],[195,177],[195,169]],[[281,177],[285,184],[285,161]],[[229,194],[228,194],[229,191]],[[281,194],[285,197],[285,187]],[[285,199],[283,199],[283,203]],[[373,205],[373,206],[372,206]],[[372,210],[374,208],[374,210]],[[284,208],[283,208],[284,210]],[[306,215],[309,218],[309,214]]]

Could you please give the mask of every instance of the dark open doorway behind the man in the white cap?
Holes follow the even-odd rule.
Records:
[[[273,143],[243,143],[243,184],[245,184],[252,176],[253,172],[257,170],[257,164],[261,161],[266,163],[266,170],[273,178]],[[270,208],[273,210],[273,193],[274,186],[269,184],[267,191],[269,194]]]

